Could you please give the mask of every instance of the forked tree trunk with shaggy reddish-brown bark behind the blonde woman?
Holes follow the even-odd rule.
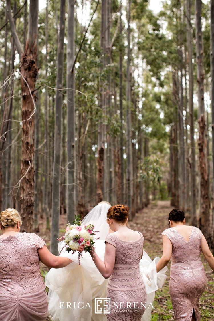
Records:
[[[13,39],[20,56],[21,95],[22,95],[22,157],[20,182],[20,214],[22,230],[32,231],[34,217],[34,89],[37,77],[37,35],[38,35],[38,0],[30,0],[28,16],[28,34],[25,51],[15,30],[10,0],[7,0],[7,15]]]

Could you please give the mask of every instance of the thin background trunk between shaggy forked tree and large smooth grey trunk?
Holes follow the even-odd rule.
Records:
[[[48,44],[48,0],[46,1],[45,16],[45,77],[47,79],[47,44]],[[45,91],[45,128],[44,128],[44,186],[43,186],[43,213],[46,218],[46,230],[50,230],[49,208],[48,208],[48,90]]]

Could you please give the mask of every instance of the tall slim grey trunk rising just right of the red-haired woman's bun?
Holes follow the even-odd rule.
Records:
[[[133,199],[133,153],[132,153],[132,123],[131,123],[131,77],[130,77],[130,61],[131,61],[131,48],[130,48],[130,17],[131,17],[131,0],[127,3],[127,71],[126,71],[126,154],[127,154],[127,204],[129,207],[130,220],[133,217],[132,199]]]

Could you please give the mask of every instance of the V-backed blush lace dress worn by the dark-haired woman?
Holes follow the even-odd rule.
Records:
[[[200,259],[202,233],[193,226],[188,242],[174,228],[162,234],[172,243],[169,293],[175,320],[192,320],[194,309],[196,320],[199,321],[199,299],[207,284]]]

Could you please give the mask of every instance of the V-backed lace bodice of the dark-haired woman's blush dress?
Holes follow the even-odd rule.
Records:
[[[188,270],[202,267],[200,259],[201,230],[193,226],[188,242],[174,228],[166,229],[162,234],[166,235],[172,243],[171,269],[180,267]]]

